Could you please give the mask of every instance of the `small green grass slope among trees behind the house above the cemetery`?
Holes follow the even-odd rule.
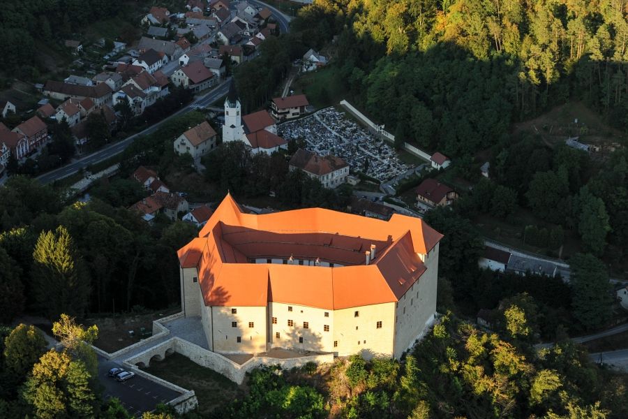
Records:
[[[337,73],[334,66],[306,73],[292,83],[294,94],[306,94],[310,104],[317,109],[337,105],[346,96]]]

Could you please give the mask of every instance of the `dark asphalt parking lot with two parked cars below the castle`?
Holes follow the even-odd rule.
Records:
[[[107,375],[113,367],[123,368],[119,363],[108,361],[98,355],[98,381],[104,388],[103,397],[105,399],[117,397],[133,416],[142,416],[142,412],[154,410],[158,403],[170,402],[181,395],[141,376],[119,383]]]

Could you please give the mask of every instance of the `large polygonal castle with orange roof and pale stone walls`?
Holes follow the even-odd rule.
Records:
[[[178,251],[182,311],[217,353],[400,358],[434,321],[441,239],[401,214],[248,214],[227,194]]]

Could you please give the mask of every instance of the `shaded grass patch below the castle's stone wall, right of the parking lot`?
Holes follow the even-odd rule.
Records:
[[[198,399],[196,413],[200,418],[209,416],[216,407],[245,395],[242,386],[178,353],[170,355],[162,362],[153,362],[144,370],[170,383],[194,390]]]

